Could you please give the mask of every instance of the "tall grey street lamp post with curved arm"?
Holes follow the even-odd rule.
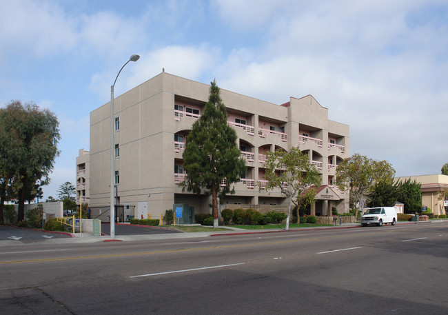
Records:
[[[115,157],[114,157],[114,86],[116,79],[119,78],[121,70],[129,61],[137,61],[140,56],[133,54],[128,61],[121,67],[119,74],[116,74],[114,84],[110,87],[110,238],[115,238],[115,201],[114,201],[114,183],[115,183]]]

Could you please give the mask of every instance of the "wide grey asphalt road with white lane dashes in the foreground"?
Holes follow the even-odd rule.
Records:
[[[448,314],[448,223],[0,247],[1,314]]]

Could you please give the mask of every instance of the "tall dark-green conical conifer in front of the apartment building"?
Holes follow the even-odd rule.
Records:
[[[236,139],[235,130],[227,124],[227,111],[214,80],[205,110],[187,136],[183,152],[187,176],[182,183],[184,190],[201,194],[205,188],[207,194],[212,194],[214,227],[218,227],[217,199],[222,201],[225,194],[234,194],[232,183],[239,181],[246,172]]]

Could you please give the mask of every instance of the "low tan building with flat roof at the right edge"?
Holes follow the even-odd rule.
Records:
[[[395,181],[416,181],[422,184],[422,206],[431,208],[431,212],[440,215],[446,214],[443,206],[443,199],[440,199],[441,192],[448,189],[448,175],[420,175],[396,177]]]

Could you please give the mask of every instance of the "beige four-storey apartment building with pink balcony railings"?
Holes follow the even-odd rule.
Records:
[[[114,170],[116,203],[126,215],[160,218],[174,204],[210,213],[210,197],[183,192],[182,154],[192,124],[203,112],[210,85],[162,72],[114,100]],[[336,165],[349,156],[349,126],[328,119],[328,110],[313,96],[290,97],[281,105],[221,89],[227,121],[238,136],[247,174],[234,184],[236,194],[225,207],[252,207],[261,212],[284,210],[279,190],[265,190],[265,153],[300,146],[322,176],[311,212],[348,212],[348,194],[334,187]],[[110,203],[110,103],[90,113],[91,207]],[[80,151],[85,156],[85,151]],[[77,170],[83,170],[78,164]],[[82,191],[80,192],[82,194]],[[128,211],[128,212],[126,212]]]

